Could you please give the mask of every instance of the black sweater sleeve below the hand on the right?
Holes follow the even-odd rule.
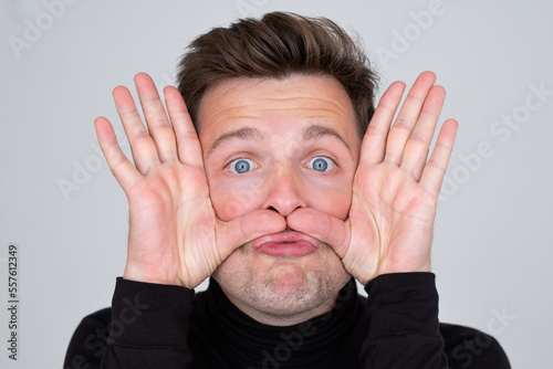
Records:
[[[432,273],[386,274],[371,281],[363,368],[447,369]]]

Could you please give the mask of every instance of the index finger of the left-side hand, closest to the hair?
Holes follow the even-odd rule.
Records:
[[[202,167],[204,157],[200,140],[186,104],[182,101],[182,96],[173,86],[165,87],[164,94],[167,110],[169,112],[173,128],[177,137],[178,159],[182,164]]]

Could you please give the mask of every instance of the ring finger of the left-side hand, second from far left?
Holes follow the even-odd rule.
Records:
[[[156,145],[144,126],[128,89],[124,86],[115,87],[113,98],[131,144],[136,169],[145,175],[153,166],[159,164]]]

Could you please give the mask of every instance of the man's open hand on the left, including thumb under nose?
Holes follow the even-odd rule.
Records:
[[[195,288],[238,246],[280,232],[285,220],[258,210],[230,222],[217,219],[209,198],[201,146],[175,87],[166,87],[168,116],[152,78],[135,84],[147,128],[127,88],[113,96],[131,143],[134,165],[117,144],[106,118],[95,120],[102,151],[129,207],[124,277]]]

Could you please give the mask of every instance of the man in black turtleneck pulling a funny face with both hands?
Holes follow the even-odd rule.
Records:
[[[128,254],[66,368],[509,368],[491,337],[438,323],[430,243],[457,123],[428,157],[432,73],[393,124],[403,83],[374,109],[375,75],[341,28],[271,13],[198,38],[178,82],[166,113],[136,76],[146,126],[115,88],[134,164],[95,122]]]

